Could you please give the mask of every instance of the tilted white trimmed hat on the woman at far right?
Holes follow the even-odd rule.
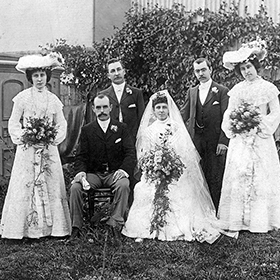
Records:
[[[266,43],[257,38],[257,40],[242,44],[238,51],[228,51],[223,56],[223,66],[233,70],[235,65],[245,62],[249,58],[257,57],[259,61],[266,57]]]

